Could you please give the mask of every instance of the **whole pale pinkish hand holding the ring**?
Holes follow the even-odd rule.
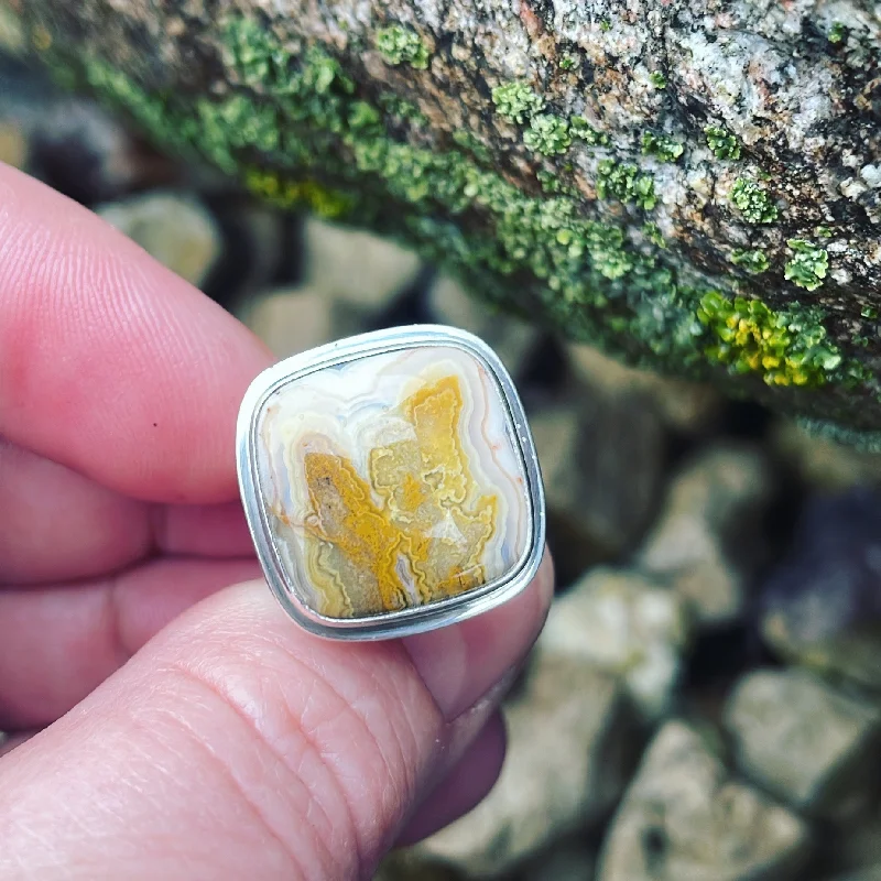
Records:
[[[461,815],[544,621],[516,599],[374,644],[260,579],[232,438],[272,358],[0,164],[0,877],[369,878]]]

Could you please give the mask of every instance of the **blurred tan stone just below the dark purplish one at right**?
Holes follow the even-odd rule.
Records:
[[[881,709],[805,671],[747,674],[725,724],[743,774],[802,813],[852,814],[873,794]]]

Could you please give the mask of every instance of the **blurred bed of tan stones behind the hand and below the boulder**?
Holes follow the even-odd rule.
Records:
[[[6,30],[4,30],[6,28]],[[558,598],[468,817],[381,881],[881,879],[881,457],[493,313],[368,233],[154,152],[15,59],[0,160],[96,210],[284,357],[469,329],[527,407]]]

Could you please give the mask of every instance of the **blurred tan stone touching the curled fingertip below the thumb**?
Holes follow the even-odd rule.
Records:
[[[509,878],[553,839],[595,824],[631,768],[632,718],[614,681],[540,651],[504,709],[508,755],[487,798],[418,846],[469,877]]]

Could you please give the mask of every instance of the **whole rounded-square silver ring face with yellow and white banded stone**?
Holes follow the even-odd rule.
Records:
[[[236,448],[267,580],[313,633],[376,640],[464,621],[541,563],[523,405],[471,334],[399,327],[281,361],[248,389]]]

